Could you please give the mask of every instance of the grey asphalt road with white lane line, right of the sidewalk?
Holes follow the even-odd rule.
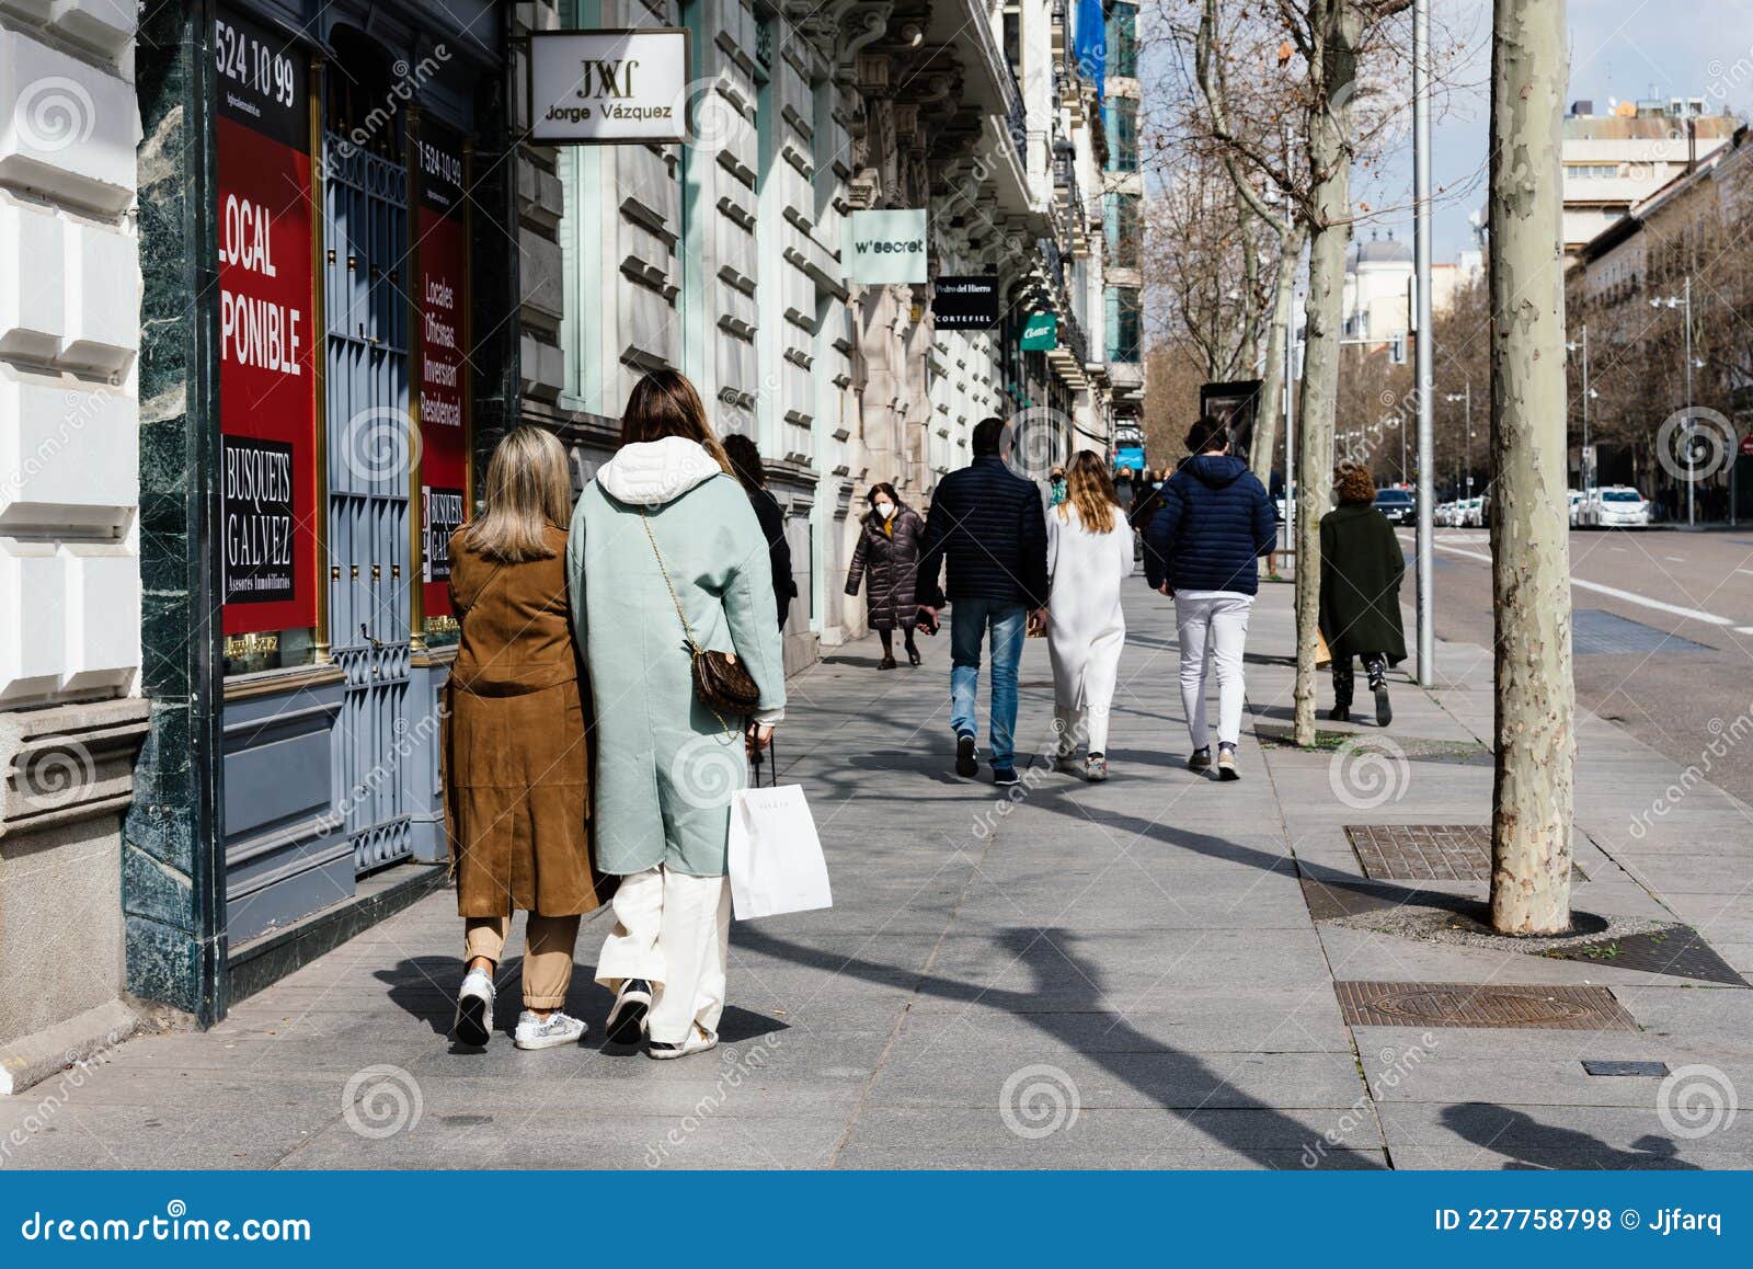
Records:
[[[1402,531],[1401,542],[1409,557],[1413,535]],[[1436,531],[1439,640],[1492,645],[1488,552],[1483,529]],[[1572,529],[1571,570],[1579,706],[1683,768],[1725,729],[1744,733],[1753,717],[1753,529]],[[1411,599],[1409,584],[1402,599]],[[1609,647],[1625,650],[1590,650]],[[1443,656],[1439,643],[1439,666]],[[1709,780],[1753,803],[1746,755],[1716,762]]]

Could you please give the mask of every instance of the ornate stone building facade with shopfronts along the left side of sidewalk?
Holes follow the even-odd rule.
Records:
[[[0,0],[7,1088],[444,883],[445,543],[508,426],[582,486],[689,373],[787,510],[789,670],[864,629],[871,482],[929,508],[990,414],[1031,475],[1110,445],[1082,4]],[[647,26],[685,144],[526,140],[526,37]],[[903,209],[924,275],[852,282]]]

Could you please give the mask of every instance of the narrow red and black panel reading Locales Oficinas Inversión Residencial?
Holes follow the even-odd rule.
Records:
[[[461,133],[433,119],[419,138],[421,566],[428,624],[452,617],[451,535],[468,489],[468,179]]]

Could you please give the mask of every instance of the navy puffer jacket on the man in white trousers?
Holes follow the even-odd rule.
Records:
[[[1162,508],[1145,535],[1145,580],[1173,591],[1253,594],[1253,563],[1278,542],[1266,486],[1227,454],[1199,454],[1162,482]]]

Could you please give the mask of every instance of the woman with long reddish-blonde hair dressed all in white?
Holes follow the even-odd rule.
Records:
[[[1047,514],[1047,647],[1054,661],[1055,766],[1108,778],[1108,710],[1120,675],[1125,613],[1120,584],[1132,573],[1132,533],[1108,464],[1080,450],[1066,468],[1066,498]]]

